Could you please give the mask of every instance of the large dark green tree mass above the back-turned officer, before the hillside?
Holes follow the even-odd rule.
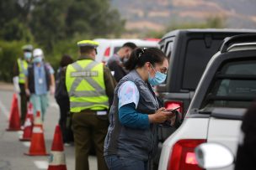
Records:
[[[48,51],[63,39],[118,35],[124,29],[124,21],[108,0],[39,0],[34,6],[29,26]]]

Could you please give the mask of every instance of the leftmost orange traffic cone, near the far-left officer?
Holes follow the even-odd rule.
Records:
[[[9,118],[9,127],[8,129],[6,129],[6,131],[19,131],[19,130],[20,130],[20,120],[19,120],[18,98],[16,93],[14,93],[11,113]]]

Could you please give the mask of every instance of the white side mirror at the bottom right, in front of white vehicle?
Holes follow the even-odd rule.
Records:
[[[203,143],[195,147],[195,157],[202,168],[222,168],[232,165],[234,156],[227,148],[217,143]]]

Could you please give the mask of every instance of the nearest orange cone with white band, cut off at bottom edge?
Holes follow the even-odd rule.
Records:
[[[59,125],[55,129],[48,170],[67,170],[61,127]]]

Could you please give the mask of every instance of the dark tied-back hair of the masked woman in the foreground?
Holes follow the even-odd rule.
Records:
[[[167,59],[163,51],[157,48],[141,49],[137,48],[132,51],[130,58],[125,62],[126,70],[134,70],[136,67],[142,67],[145,63],[149,62],[153,66],[162,64],[163,60]]]

